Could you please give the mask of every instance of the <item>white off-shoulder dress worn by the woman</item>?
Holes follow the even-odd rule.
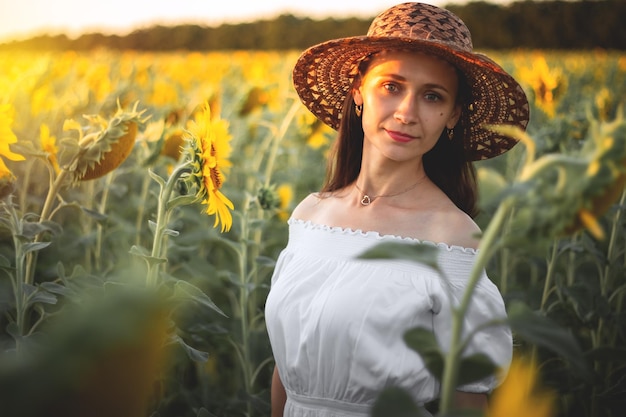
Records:
[[[434,269],[416,262],[356,259],[384,241],[418,242],[289,220],[289,242],[278,258],[265,307],[287,392],[285,417],[368,416],[380,391],[389,386],[406,389],[418,404],[439,396],[437,380],[406,346],[403,334],[413,327],[432,329],[447,350],[446,283]],[[477,251],[433,245],[458,303]],[[473,300],[466,333],[506,314],[498,289],[484,272]],[[466,354],[477,351],[508,367],[508,327],[477,333]],[[459,390],[488,392],[496,384],[492,377]]]

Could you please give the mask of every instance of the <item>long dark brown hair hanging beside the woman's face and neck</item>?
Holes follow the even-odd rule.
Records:
[[[366,65],[360,67],[364,74]],[[454,204],[471,217],[477,212],[476,170],[466,157],[464,144],[468,141],[467,103],[470,101],[469,88],[462,74],[459,74],[459,94],[457,101],[462,106],[461,117],[454,127],[454,136],[448,138],[444,130],[439,140],[423,156],[424,170],[428,178],[437,185]],[[351,89],[343,103],[337,140],[329,154],[326,180],[322,192],[333,192],[352,184],[361,171],[363,157],[363,125],[355,113],[354,96]]]

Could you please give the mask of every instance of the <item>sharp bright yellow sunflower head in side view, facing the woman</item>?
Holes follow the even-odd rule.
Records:
[[[226,179],[224,170],[231,166],[228,123],[211,119],[211,108],[206,103],[195,120],[189,122],[185,139],[193,170],[191,178],[198,189],[196,197],[208,206],[209,216],[215,215],[213,227],[221,224],[222,232],[229,231],[233,224],[230,210],[234,205],[220,191]]]

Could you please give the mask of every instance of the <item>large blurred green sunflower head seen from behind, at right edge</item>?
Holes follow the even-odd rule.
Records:
[[[511,198],[515,204],[509,239],[560,238],[585,228],[602,240],[600,218],[626,186],[626,117],[611,122],[590,119],[581,149],[571,154],[546,154],[535,159],[535,143],[510,126],[493,126],[526,144],[526,164]],[[508,193],[509,191],[507,191]],[[509,197],[511,196],[511,197]]]

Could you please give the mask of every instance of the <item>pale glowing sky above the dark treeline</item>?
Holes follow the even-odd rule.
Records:
[[[423,0],[443,6],[471,0]],[[505,3],[508,0],[492,0]],[[291,13],[373,17],[400,0],[0,0],[0,42],[83,33],[125,35],[155,24],[217,26]]]

